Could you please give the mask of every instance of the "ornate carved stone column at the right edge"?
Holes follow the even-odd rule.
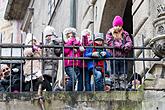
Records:
[[[158,5],[158,15],[154,20],[154,37],[150,40],[152,51],[162,60],[152,65],[146,74],[145,88],[165,89],[165,5]]]

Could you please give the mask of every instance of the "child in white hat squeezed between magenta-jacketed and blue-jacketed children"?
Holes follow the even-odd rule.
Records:
[[[89,46],[92,44],[92,32],[89,29],[84,29],[81,32],[81,45],[82,46]],[[85,51],[85,50],[84,50]],[[85,52],[84,52],[85,53]],[[84,55],[83,55],[84,57]],[[85,75],[83,75],[85,78],[85,91],[91,91],[91,72],[88,72],[88,67],[85,62],[83,62],[83,70],[81,71],[83,74],[83,71]]]

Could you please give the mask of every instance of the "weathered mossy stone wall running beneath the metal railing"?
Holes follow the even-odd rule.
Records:
[[[46,110],[164,110],[163,91],[44,93]],[[41,110],[35,93],[0,94],[0,110]]]

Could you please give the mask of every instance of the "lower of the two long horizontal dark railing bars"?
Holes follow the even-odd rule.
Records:
[[[0,57],[1,60],[63,60],[63,57]],[[65,60],[130,60],[130,61],[160,61],[161,58],[122,58],[122,57],[110,57],[110,58],[88,58],[88,57],[64,57]]]

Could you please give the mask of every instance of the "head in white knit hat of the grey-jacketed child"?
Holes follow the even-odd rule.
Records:
[[[58,37],[55,33],[54,27],[52,26],[46,26],[43,34],[44,34],[45,40],[49,40],[49,41]]]

